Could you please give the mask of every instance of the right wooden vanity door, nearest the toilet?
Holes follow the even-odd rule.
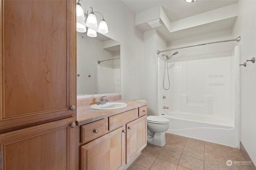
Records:
[[[147,116],[126,124],[126,164],[147,145]]]

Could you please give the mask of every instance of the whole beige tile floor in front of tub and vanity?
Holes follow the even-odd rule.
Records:
[[[227,160],[244,157],[237,148],[166,133],[164,147],[148,144],[128,170],[249,170]]]

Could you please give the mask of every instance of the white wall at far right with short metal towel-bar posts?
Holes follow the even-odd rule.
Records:
[[[256,1],[239,0],[233,37],[241,36],[241,60],[256,54]],[[240,67],[240,141],[256,164],[256,63]]]

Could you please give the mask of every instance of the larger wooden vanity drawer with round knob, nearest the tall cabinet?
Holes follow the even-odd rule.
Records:
[[[86,143],[94,140],[107,132],[106,119],[88,123],[81,127],[81,142]]]

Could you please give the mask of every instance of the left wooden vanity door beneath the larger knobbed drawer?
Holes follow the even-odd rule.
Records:
[[[81,146],[82,170],[118,170],[125,166],[125,127]]]

